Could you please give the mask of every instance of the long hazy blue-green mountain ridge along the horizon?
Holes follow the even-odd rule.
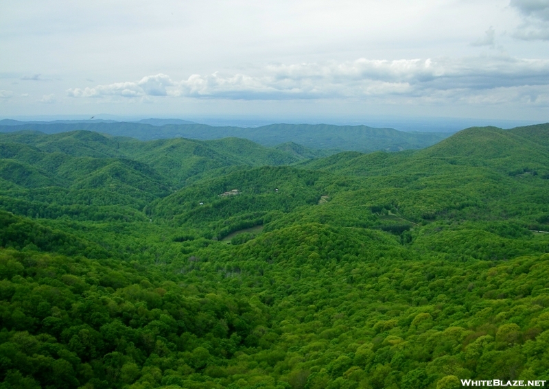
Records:
[[[398,151],[425,148],[445,139],[447,132],[402,132],[393,128],[368,126],[331,126],[327,124],[272,124],[257,128],[213,127],[198,123],[176,124],[172,121],[108,122],[84,121],[80,123],[28,122],[1,125],[0,132],[33,130],[45,134],[88,130],[117,137],[133,137],[148,141],[152,139],[189,138],[222,139],[237,137],[272,147],[280,143],[294,142],[314,149]],[[167,123],[163,124],[162,123]]]

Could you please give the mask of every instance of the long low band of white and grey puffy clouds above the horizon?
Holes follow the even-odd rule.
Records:
[[[490,30],[489,30],[490,31]],[[492,30],[493,31],[493,30]],[[69,89],[72,97],[191,97],[198,99],[408,99],[489,101],[495,91],[535,89],[548,95],[549,60],[508,56],[273,64],[257,75],[191,75],[176,82],[164,74],[139,82]],[[500,93],[500,92],[498,92]],[[526,93],[526,92],[524,92]],[[530,95],[532,91],[528,92]],[[518,95],[510,94],[513,98]],[[522,98],[522,97],[520,97]],[[498,97],[500,99],[500,97]],[[544,98],[536,98],[544,102]]]

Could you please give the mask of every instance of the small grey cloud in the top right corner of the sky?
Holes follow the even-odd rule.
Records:
[[[513,36],[522,40],[549,40],[549,0],[511,0],[522,16]]]

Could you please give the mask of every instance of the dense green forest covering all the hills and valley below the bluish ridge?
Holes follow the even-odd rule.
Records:
[[[549,123],[310,147],[0,133],[0,389],[549,381]]]

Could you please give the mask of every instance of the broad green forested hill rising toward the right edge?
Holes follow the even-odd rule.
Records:
[[[303,161],[301,167],[350,175],[384,172],[451,172],[450,165],[490,167],[509,175],[549,173],[549,124],[502,130],[467,128],[417,152],[339,153]]]

